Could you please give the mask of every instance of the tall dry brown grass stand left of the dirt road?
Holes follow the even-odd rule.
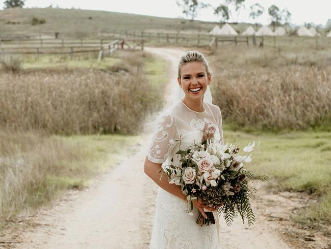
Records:
[[[161,104],[158,93],[140,74],[1,74],[0,126],[57,134],[134,133]]]

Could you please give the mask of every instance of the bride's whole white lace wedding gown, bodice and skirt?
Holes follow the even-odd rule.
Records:
[[[215,140],[223,141],[219,107],[205,102],[203,107],[203,112],[193,111],[181,100],[170,106],[159,118],[147,153],[148,160],[166,166],[173,158],[173,164],[177,164],[176,151],[200,142],[201,129],[206,122],[215,126]],[[180,137],[181,144],[174,141]],[[216,225],[200,227],[195,223],[199,211],[194,207],[193,216],[190,216],[187,210],[187,201],[159,188],[150,249],[219,248]]]

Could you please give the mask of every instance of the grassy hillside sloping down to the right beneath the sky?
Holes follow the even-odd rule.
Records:
[[[45,24],[31,25],[34,17],[45,19]],[[59,8],[12,8],[0,11],[1,33],[49,33],[66,36],[97,35],[102,30],[126,30],[136,32],[209,32],[217,22],[190,21],[181,18],[164,18],[109,11],[59,9]],[[234,26],[243,31],[247,25]]]

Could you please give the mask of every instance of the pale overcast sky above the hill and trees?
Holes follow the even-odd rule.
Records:
[[[206,0],[213,6],[222,3],[221,0]],[[1,1],[1,7],[3,7]],[[248,18],[249,6],[259,3],[265,8],[265,13],[258,20],[262,24],[269,24],[267,9],[271,5],[278,6],[279,9],[287,8],[292,13],[291,21],[293,24],[302,25],[304,22],[314,22],[315,24],[325,24],[327,19],[331,18],[331,0],[246,0],[245,9],[239,16],[239,22],[252,22]],[[135,13],[142,15],[162,16],[162,17],[180,17],[183,16],[175,0],[26,0],[26,7],[44,8],[53,4],[60,8],[81,8],[89,10],[105,10],[124,13]],[[200,11],[196,18],[205,21],[219,21],[219,18],[213,14],[212,9]],[[235,20],[237,18],[235,17]]]

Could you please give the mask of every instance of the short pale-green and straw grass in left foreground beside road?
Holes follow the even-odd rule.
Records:
[[[122,159],[136,137],[55,137],[0,131],[0,228],[31,214]],[[124,153],[125,154],[125,153]]]

